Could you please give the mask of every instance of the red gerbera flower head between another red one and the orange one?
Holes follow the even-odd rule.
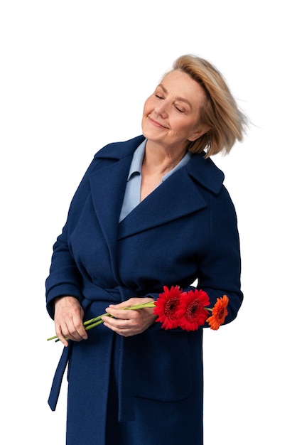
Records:
[[[205,323],[208,311],[205,306],[210,304],[210,298],[202,289],[183,292],[180,307],[183,316],[180,318],[179,326],[185,331],[195,331]]]

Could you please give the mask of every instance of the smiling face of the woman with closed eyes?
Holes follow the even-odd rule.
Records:
[[[185,148],[205,133],[198,125],[204,102],[198,82],[183,71],[171,71],[144,104],[144,136],[169,149]]]

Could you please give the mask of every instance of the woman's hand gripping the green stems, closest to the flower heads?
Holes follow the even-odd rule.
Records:
[[[134,297],[120,304],[110,304],[106,311],[112,317],[102,316],[104,326],[124,337],[136,336],[144,332],[157,318],[153,313],[153,308],[131,309],[130,311],[129,309],[123,311],[123,309],[148,301],[153,301],[153,299]]]

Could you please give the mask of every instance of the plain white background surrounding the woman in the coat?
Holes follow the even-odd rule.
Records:
[[[252,121],[214,159],[245,299],[205,332],[205,444],[296,444],[295,29],[291,0],[1,1],[1,444],[65,443],[65,383],[47,404],[62,349],[46,341],[52,245],[95,152],[141,133],[144,100],[184,53],[214,63]]]

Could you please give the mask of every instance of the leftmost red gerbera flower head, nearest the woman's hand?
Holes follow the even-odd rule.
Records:
[[[158,315],[156,321],[162,323],[161,328],[173,329],[178,327],[180,321],[180,290],[179,286],[171,286],[168,289],[167,286],[163,287],[164,291],[159,294],[153,313]]]

